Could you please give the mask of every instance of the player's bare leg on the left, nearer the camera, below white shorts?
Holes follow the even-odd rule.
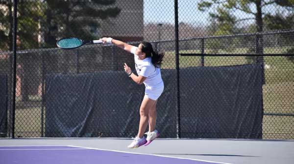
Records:
[[[144,132],[148,125],[148,119],[149,119],[149,111],[151,107],[156,103],[155,100],[147,98],[147,96],[144,97],[141,107],[140,107],[140,124],[139,124],[139,131],[138,131],[138,137],[142,138],[144,135]]]

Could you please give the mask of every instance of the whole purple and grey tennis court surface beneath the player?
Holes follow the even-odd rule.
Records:
[[[294,141],[0,139],[1,164],[291,164]]]

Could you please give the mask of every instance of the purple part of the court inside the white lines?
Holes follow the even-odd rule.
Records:
[[[223,164],[73,146],[0,146],[1,164]]]

